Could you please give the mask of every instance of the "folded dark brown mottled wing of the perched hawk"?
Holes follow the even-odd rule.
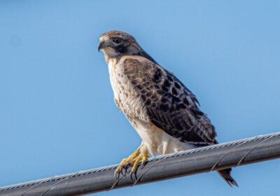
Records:
[[[183,142],[216,143],[214,126],[176,76],[144,57],[126,57],[121,64],[154,125]]]

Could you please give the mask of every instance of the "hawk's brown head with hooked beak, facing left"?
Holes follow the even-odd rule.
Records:
[[[137,43],[136,39],[123,31],[108,31],[99,37],[98,50],[104,52],[106,62],[110,59],[120,59],[124,55],[139,55],[148,59],[152,57],[148,55],[141,46]]]

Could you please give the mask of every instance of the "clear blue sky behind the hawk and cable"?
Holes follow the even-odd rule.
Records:
[[[280,128],[279,1],[0,1],[0,186],[118,163],[141,140],[113,103],[99,35],[127,31],[232,141]],[[280,161],[97,195],[270,195]]]

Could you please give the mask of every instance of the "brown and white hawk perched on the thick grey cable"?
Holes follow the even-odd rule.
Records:
[[[123,31],[99,37],[98,50],[109,66],[114,102],[142,139],[141,145],[116,169],[127,166],[136,174],[148,157],[218,144],[214,125],[200,111],[195,94],[173,73],[160,66],[136,39]],[[218,174],[230,185],[237,183],[231,169]]]

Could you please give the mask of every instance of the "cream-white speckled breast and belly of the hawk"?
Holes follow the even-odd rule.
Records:
[[[193,146],[171,137],[148,120],[146,109],[130,80],[123,75],[123,68],[109,62],[109,74],[115,102],[141,137],[151,156],[185,151]],[[134,115],[137,113],[137,116]]]

